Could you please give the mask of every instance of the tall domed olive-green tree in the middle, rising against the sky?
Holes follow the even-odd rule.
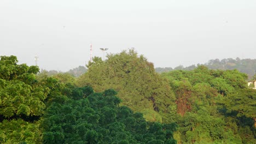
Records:
[[[95,57],[88,72],[79,77],[78,86],[91,86],[96,92],[113,88],[122,105],[144,113],[150,121],[161,122],[158,112],[175,109],[174,95],[168,82],[155,73],[152,63],[132,49],[110,54],[106,61]]]

